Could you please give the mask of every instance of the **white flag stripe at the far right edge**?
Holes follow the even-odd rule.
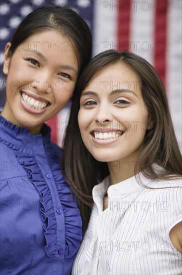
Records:
[[[182,1],[170,1],[168,13],[167,87],[175,132],[182,151]]]

